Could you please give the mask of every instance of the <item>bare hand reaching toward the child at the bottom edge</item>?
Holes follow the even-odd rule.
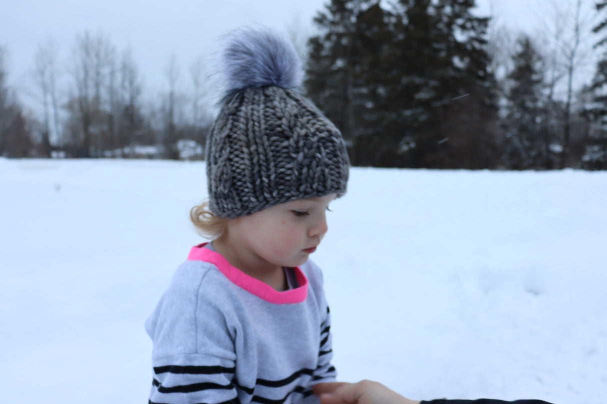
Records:
[[[314,394],[321,404],[419,404],[371,380],[358,383],[318,383]]]

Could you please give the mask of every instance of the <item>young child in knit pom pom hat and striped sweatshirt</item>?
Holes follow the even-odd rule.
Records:
[[[209,201],[191,214],[212,242],[191,249],[146,322],[150,402],[318,402],[313,386],[336,372],[322,274],[308,257],[327,232],[329,203],[346,192],[345,143],[297,92],[289,42],[241,30],[223,63]]]

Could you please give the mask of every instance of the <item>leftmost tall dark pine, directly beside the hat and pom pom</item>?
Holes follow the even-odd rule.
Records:
[[[368,67],[376,65],[377,55],[373,49],[377,42],[363,32],[375,27],[372,18],[381,18],[374,15],[378,9],[378,0],[331,0],[314,18],[320,34],[308,42],[308,96],[341,129],[350,159],[357,165],[364,164],[361,145],[370,129],[362,120],[373,120],[368,114],[373,86],[365,75]]]

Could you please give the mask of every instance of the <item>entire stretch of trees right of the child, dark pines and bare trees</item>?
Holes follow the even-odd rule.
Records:
[[[547,10],[554,36],[508,41],[473,0],[331,0],[306,87],[356,165],[607,169],[607,61],[575,91],[589,19],[582,0],[563,4]]]

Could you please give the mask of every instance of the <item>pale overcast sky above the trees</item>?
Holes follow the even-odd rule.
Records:
[[[491,3],[510,27],[533,31],[538,2],[546,0],[477,0],[478,14],[489,15]],[[564,0],[561,0],[564,1]],[[588,0],[586,0],[588,1]],[[29,70],[36,47],[52,37],[66,61],[75,36],[89,30],[109,36],[119,50],[131,47],[144,77],[156,91],[171,55],[187,71],[197,58],[208,58],[218,38],[242,25],[262,24],[286,32],[310,32],[311,20],[325,0],[22,0],[3,1],[0,45],[8,50],[9,82],[31,87]],[[185,75],[185,74],[184,74]],[[19,91],[21,94],[22,91]]]

